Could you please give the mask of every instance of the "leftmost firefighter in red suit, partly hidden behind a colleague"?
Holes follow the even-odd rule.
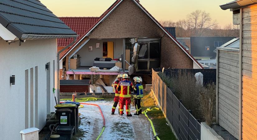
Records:
[[[114,112],[116,110],[116,107],[117,107],[119,99],[120,99],[120,92],[117,91],[117,86],[118,86],[119,82],[122,80],[122,74],[119,74],[117,76],[117,79],[118,80],[115,81],[114,84],[113,84],[113,91],[115,93],[115,96],[114,96],[114,103],[113,103],[113,106],[112,106],[112,115],[114,115]],[[120,114],[120,105],[118,107],[118,112]]]

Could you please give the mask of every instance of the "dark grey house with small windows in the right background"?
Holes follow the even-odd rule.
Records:
[[[190,54],[196,60],[206,60],[216,57],[213,51],[216,47],[227,43],[236,37],[190,37]]]

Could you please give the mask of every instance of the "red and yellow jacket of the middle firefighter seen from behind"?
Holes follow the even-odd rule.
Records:
[[[120,91],[120,97],[130,98],[131,91],[134,91],[134,86],[133,86],[132,82],[125,79],[125,80],[119,82],[119,84],[117,86],[117,91]]]

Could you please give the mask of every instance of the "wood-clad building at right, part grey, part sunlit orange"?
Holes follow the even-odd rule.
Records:
[[[222,83],[226,89],[221,90],[225,93],[225,95],[221,95],[221,91],[217,88],[217,97],[224,97],[222,103],[226,106],[224,108],[219,105],[219,102],[217,103],[219,105],[217,106],[219,111],[217,112],[217,123],[227,125],[226,129],[228,130],[234,130],[233,132],[236,133],[234,136],[240,140],[257,139],[257,34],[255,26],[257,2],[237,0],[220,7],[223,10],[233,11],[233,23],[240,25],[240,41],[237,50],[230,48],[233,51],[228,51],[229,48],[221,48],[221,51],[224,51],[226,59],[223,60],[227,66],[218,66],[217,63],[217,74],[220,72],[225,74],[223,74],[226,77],[222,78]],[[221,54],[219,56],[221,57]],[[223,66],[226,67],[223,68]],[[226,112],[222,112],[222,108]],[[225,113],[224,117],[222,117],[222,113]],[[226,113],[230,115],[226,115]],[[234,125],[230,125],[231,123]]]

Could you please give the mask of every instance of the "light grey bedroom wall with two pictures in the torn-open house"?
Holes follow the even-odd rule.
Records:
[[[102,43],[103,42],[114,42],[114,58],[121,58],[123,51],[123,39],[90,39],[87,44],[85,44],[77,54],[80,55],[80,65],[81,66],[93,66],[95,58],[102,58]],[[96,43],[100,43],[100,48],[96,48]],[[93,51],[88,51],[88,46],[93,46]]]

